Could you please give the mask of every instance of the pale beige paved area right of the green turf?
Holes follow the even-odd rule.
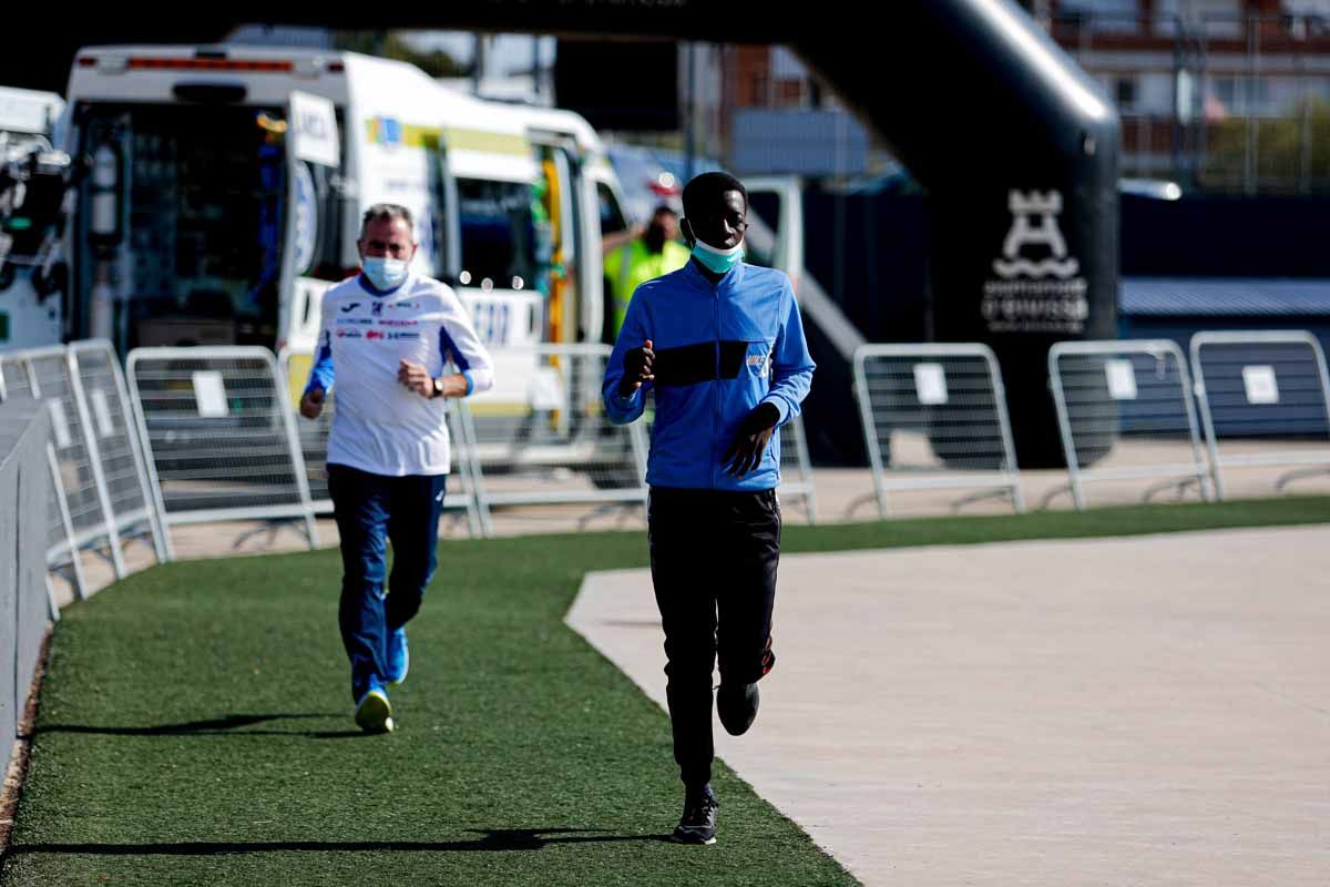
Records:
[[[664,705],[645,570],[568,621]],[[791,556],[775,638],[718,754],[866,884],[1330,883],[1323,527]]]

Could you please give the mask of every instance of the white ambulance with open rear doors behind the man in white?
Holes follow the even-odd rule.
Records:
[[[496,350],[600,338],[620,194],[576,114],[481,101],[347,52],[97,47],[69,80],[86,158],[63,336],[309,348],[370,205],[418,218],[419,270]]]

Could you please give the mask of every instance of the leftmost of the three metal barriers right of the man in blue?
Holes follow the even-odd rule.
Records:
[[[998,359],[984,344],[866,344],[855,392],[878,513],[888,495],[983,489],[952,501],[1008,497],[1025,509]]]

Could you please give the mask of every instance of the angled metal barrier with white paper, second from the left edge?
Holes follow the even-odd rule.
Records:
[[[100,553],[105,549],[116,578],[124,578],[128,570],[101,455],[69,350],[65,346],[32,348],[21,352],[20,362],[27,370],[27,395],[45,402],[51,412],[51,440],[59,471],[55,504],[60,512],[59,519],[56,513],[48,516],[52,567],[59,567],[65,555],[77,563],[78,551]],[[65,515],[68,528],[64,525]],[[72,548],[68,551],[70,536],[66,529],[72,533]]]

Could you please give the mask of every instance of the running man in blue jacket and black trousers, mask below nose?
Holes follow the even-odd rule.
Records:
[[[813,359],[794,290],[743,262],[747,191],[704,173],[684,189],[680,229],[692,259],[637,287],[605,370],[620,424],[654,390],[646,469],[652,584],[665,629],[666,697],[684,817],[674,839],[716,840],[716,709],[733,735],[757,717],[757,682],[775,662],[771,605],[781,557],[781,424],[799,412]]]

